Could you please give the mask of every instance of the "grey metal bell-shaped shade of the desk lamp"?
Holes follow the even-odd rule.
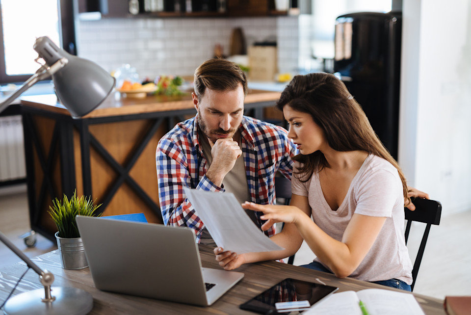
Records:
[[[61,58],[67,64],[52,75],[55,92],[72,117],[81,117],[98,105],[111,93],[116,79],[96,63],[71,55],[58,48],[48,37],[39,37],[34,50],[51,66]]]

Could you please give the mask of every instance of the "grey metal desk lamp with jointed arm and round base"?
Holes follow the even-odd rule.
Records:
[[[42,59],[44,64],[41,64],[36,73],[27,79],[20,89],[0,104],[0,112],[33,84],[50,77],[58,99],[74,118],[91,112],[111,93],[116,80],[97,64],[66,53],[54,45],[49,37],[37,38],[33,48],[39,54],[36,62]],[[0,241],[39,275],[44,286],[44,290],[24,292],[6,301],[3,309],[5,314],[81,315],[92,310],[93,298],[90,293],[76,288],[51,289],[54,281],[51,272],[39,268],[1,232]]]

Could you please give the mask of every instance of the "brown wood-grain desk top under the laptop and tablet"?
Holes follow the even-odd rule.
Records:
[[[200,254],[204,267],[219,268],[209,247],[200,245]],[[237,271],[245,273],[245,277],[212,306],[205,308],[100,291],[93,285],[88,268],[81,270],[62,269],[57,251],[36,257],[33,262],[38,264],[40,268],[48,269],[54,274],[55,281],[52,286],[76,287],[88,291],[94,299],[93,310],[90,314],[254,314],[242,311],[238,306],[289,277],[313,282],[320,280],[326,285],[339,287],[339,292],[346,290],[358,291],[367,288],[390,289],[359,280],[338,279],[328,273],[280,262],[259,262],[246,264],[237,269]],[[13,288],[25,269],[26,264],[20,262],[0,270],[0,301],[6,298],[8,292]],[[39,288],[42,288],[39,277],[34,271],[30,270],[20,282],[15,294]],[[413,294],[425,314],[445,315],[443,300]]]

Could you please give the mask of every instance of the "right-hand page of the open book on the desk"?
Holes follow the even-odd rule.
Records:
[[[357,295],[371,315],[424,314],[419,302],[411,293],[384,289],[365,289],[358,291]]]

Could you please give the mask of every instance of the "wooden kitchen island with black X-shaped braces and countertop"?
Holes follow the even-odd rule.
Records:
[[[279,92],[251,90],[245,114],[282,121]],[[65,193],[91,196],[103,215],[143,212],[162,223],[155,152],[176,123],[195,115],[191,94],[123,98],[113,92],[97,109],[74,119],[55,95],[22,98],[31,229],[54,240],[48,214]]]

